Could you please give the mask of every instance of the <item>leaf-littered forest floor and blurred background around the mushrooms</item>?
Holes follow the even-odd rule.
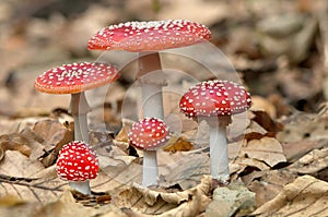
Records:
[[[0,11],[0,216],[328,216],[325,0],[4,0]],[[142,152],[127,136],[141,114],[137,56],[86,44],[110,24],[167,19],[202,23],[212,38],[161,53],[172,138],[157,153],[160,186],[147,189]],[[44,71],[82,61],[110,62],[121,74],[86,93],[101,168],[91,195],[56,173],[73,140],[70,96],[34,88]],[[225,186],[209,176],[209,126],[178,108],[186,89],[213,79],[243,84],[253,99],[227,129]]]

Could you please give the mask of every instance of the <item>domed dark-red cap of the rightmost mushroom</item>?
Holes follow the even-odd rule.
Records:
[[[250,106],[250,95],[242,85],[220,80],[198,83],[179,103],[180,111],[189,118],[231,116]]]

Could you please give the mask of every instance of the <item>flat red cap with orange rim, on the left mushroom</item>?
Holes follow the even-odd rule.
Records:
[[[103,86],[119,77],[118,70],[106,63],[81,62],[52,68],[37,76],[34,87],[48,94],[77,94]]]

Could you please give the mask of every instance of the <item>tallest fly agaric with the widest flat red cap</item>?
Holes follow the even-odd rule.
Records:
[[[204,25],[191,21],[127,22],[97,32],[89,40],[87,49],[139,52],[143,114],[163,119],[162,86],[166,81],[163,75],[142,75],[162,70],[160,50],[191,46],[210,37],[211,32]]]

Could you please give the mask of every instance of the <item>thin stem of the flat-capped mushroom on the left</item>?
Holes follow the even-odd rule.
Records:
[[[77,141],[89,143],[86,114],[90,110],[84,92],[71,95],[69,112],[74,119],[74,140]]]

